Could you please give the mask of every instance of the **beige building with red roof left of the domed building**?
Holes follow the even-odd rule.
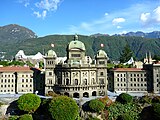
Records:
[[[0,67],[0,94],[33,93],[33,71],[29,67]]]

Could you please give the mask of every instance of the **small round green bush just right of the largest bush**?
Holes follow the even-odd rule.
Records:
[[[104,109],[105,104],[102,103],[100,100],[98,99],[93,99],[89,102],[89,107],[93,112],[100,112]]]

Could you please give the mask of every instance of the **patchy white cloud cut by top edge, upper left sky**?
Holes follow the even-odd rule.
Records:
[[[60,0],[41,0],[35,3],[35,6],[39,9],[45,9],[47,11],[55,11],[58,8]]]

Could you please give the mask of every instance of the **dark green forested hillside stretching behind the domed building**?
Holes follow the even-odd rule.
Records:
[[[0,47],[6,51],[6,56],[11,58],[19,50],[24,50],[25,54],[45,53],[49,49],[55,50],[58,56],[66,56],[66,47],[73,40],[74,35],[50,35],[41,38],[27,39],[16,44],[1,44]],[[160,55],[160,40],[147,39],[143,37],[124,37],[124,36],[83,36],[79,35],[79,40],[86,46],[86,54],[94,56],[96,51],[103,49],[111,60],[119,60],[119,57],[128,44],[137,59],[145,57],[146,52],[152,55]],[[54,44],[54,48],[51,47]],[[100,44],[104,44],[101,48]]]

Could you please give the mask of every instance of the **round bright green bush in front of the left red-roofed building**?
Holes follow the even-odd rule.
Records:
[[[41,99],[32,93],[23,94],[19,97],[18,108],[28,113],[34,113],[40,106]]]

